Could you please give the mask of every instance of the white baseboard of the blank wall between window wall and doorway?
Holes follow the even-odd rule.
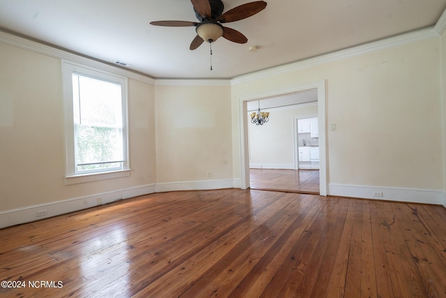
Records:
[[[205,189],[236,188],[236,180],[202,180],[202,181],[178,181],[156,184],[156,192],[166,191],[199,191]],[[239,187],[240,188],[240,187]]]

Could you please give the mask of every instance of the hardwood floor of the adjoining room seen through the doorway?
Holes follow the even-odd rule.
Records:
[[[249,169],[252,189],[319,194],[318,170]]]

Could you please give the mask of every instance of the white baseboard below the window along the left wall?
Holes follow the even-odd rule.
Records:
[[[102,204],[108,204],[116,200],[133,198],[139,195],[147,195],[149,193],[155,193],[155,184],[125,188],[118,191],[97,193],[95,195],[80,198],[71,198],[68,200],[60,200],[56,202],[0,211],[0,228],[6,228],[11,225],[19,225],[21,223],[29,223],[31,221],[37,221],[43,218],[49,218]],[[46,215],[37,216],[37,213],[40,211],[46,211]]]

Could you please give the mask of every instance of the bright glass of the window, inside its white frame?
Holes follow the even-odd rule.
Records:
[[[121,85],[77,74],[72,83],[76,171],[123,168]]]

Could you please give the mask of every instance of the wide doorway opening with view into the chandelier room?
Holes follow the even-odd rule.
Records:
[[[316,90],[248,103],[249,116],[257,108],[254,103],[272,120],[249,121],[254,122],[248,125],[250,188],[319,194]]]

